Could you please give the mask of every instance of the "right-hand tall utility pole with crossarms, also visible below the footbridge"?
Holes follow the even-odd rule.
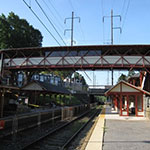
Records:
[[[113,15],[113,10],[111,10],[111,16],[103,16],[103,23],[104,23],[105,18],[111,18],[111,45],[114,44],[113,30],[114,29],[120,29],[120,33],[122,33],[121,27],[114,27],[114,25],[113,25],[113,18],[114,17],[119,17],[120,21],[121,21],[121,16],[120,15]],[[112,85],[113,85],[114,84],[113,68],[111,68],[111,74],[112,74]]]

